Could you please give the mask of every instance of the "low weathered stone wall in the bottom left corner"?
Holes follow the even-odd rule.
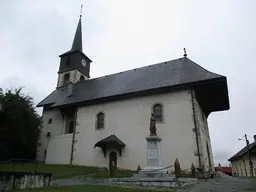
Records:
[[[52,173],[0,171],[0,190],[49,187],[52,180]]]

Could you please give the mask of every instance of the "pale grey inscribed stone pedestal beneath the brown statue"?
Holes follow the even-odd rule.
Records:
[[[145,174],[148,173],[163,173],[166,170],[159,170],[163,168],[161,159],[161,146],[160,142],[162,140],[159,136],[149,136],[146,137],[147,140],[147,166],[140,172]]]

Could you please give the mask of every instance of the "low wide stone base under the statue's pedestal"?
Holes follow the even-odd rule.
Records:
[[[197,178],[113,178],[112,184],[182,188],[198,183]]]

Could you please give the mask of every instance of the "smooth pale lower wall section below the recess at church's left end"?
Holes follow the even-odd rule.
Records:
[[[52,137],[48,143],[47,164],[69,164],[72,145],[72,134]]]

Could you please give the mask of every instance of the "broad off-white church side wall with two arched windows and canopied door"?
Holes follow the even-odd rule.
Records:
[[[149,134],[149,118],[152,105],[163,104],[164,123],[157,124],[157,133],[162,137],[162,160],[164,166],[173,165],[179,159],[182,169],[188,169],[193,162],[198,165],[194,155],[196,148],[193,111],[190,91],[178,91],[163,95],[109,102],[85,106],[78,109],[74,152],[74,164],[88,166],[108,166],[107,157],[99,148],[97,141],[115,134],[126,147],[118,156],[118,167],[136,169],[140,164],[146,166],[146,140]],[[105,128],[95,130],[95,118],[99,112],[105,113]],[[66,146],[66,145],[65,145]],[[52,162],[58,154],[52,154]],[[50,160],[49,160],[50,161]]]

